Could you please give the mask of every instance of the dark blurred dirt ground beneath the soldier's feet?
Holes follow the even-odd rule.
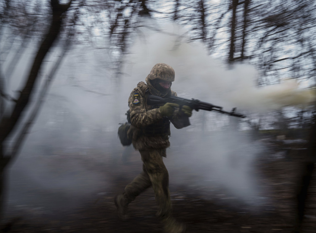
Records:
[[[286,149],[289,145],[268,143],[267,146],[273,148],[270,156],[258,155],[252,164],[252,175],[260,177],[256,185],[264,190],[264,195],[252,200],[253,204],[228,194],[220,185],[211,189],[175,185],[173,174],[169,173],[173,214],[187,225],[187,233],[292,232],[294,190],[304,146],[293,143],[291,150]],[[100,154],[98,151],[93,153]],[[161,223],[155,217],[157,207],[151,189],[130,204],[131,218],[128,221],[120,221],[116,215],[113,198],[140,172],[139,154],[135,151],[128,162],[122,162],[119,153],[116,157],[108,157],[107,161],[102,153],[94,159],[71,151],[40,158],[21,158],[20,163],[24,165],[32,163],[36,166],[39,160],[50,164],[45,169],[52,169],[56,179],[62,180],[65,174],[76,177],[82,189],[65,193],[60,186],[49,190],[38,188],[29,177],[19,174],[19,166],[13,167],[11,176],[14,181],[10,184],[11,197],[7,202],[3,232],[162,232]],[[69,169],[74,161],[78,170]],[[83,167],[87,174],[79,174]],[[97,174],[97,178],[88,175],[90,172]],[[89,185],[92,183],[94,185]],[[316,231],[315,187],[316,179],[313,177],[304,218],[303,232],[306,233]]]

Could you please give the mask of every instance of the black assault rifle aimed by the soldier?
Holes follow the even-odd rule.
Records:
[[[205,110],[205,111],[215,111],[219,112],[228,116],[234,116],[234,117],[241,117],[245,118],[245,115],[242,115],[240,113],[236,113],[236,108],[233,108],[232,111],[227,112],[223,111],[223,107],[212,105],[207,102],[200,101],[198,99],[185,99],[178,96],[169,96],[169,97],[159,97],[155,95],[148,95],[147,97],[147,104],[148,105],[156,105],[156,104],[165,104],[165,103],[174,103],[181,106],[186,105],[190,108],[194,109],[195,111]]]

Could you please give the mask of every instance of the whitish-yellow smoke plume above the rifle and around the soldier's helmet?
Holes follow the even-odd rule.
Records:
[[[228,69],[210,57],[202,43],[189,42],[179,26],[169,23],[157,28],[148,24],[139,34],[126,65],[125,72],[131,75],[124,81],[128,85],[136,78],[146,77],[153,65],[162,62],[174,68],[173,89],[185,96],[251,111],[276,110],[286,105],[304,107],[315,101],[315,92],[300,88],[295,79],[257,88],[258,71],[252,65],[239,64]]]

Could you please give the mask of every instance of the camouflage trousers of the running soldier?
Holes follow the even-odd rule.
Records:
[[[152,186],[159,207],[157,215],[161,219],[168,218],[171,215],[169,174],[162,161],[162,157],[166,156],[166,149],[139,152],[142,156],[143,171],[126,185],[123,194],[125,203],[132,202],[140,193]]]

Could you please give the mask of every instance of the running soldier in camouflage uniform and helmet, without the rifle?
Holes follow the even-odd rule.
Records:
[[[124,189],[124,193],[115,197],[119,217],[126,219],[127,206],[140,193],[152,186],[159,210],[157,216],[162,220],[167,233],[185,232],[185,225],[176,221],[171,214],[169,194],[169,175],[162,157],[166,157],[166,148],[170,146],[170,122],[175,128],[190,125],[192,109],[188,106],[166,103],[164,105],[147,105],[147,95],[176,96],[171,90],[174,81],[171,66],[156,64],[144,82],[139,82],[129,99],[132,143],[139,150],[143,171]]]

